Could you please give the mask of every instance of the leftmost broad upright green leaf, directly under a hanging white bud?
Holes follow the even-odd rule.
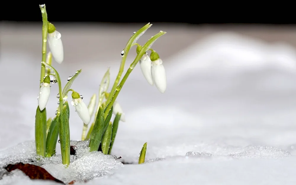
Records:
[[[46,150],[46,108],[40,110],[39,106],[35,116],[35,142],[36,153],[45,157]]]

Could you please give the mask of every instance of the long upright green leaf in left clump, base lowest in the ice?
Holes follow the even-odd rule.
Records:
[[[67,101],[66,101],[67,102]],[[65,102],[65,103],[66,103]],[[66,103],[59,115],[59,140],[61,144],[62,163],[70,164],[70,128],[69,128],[69,106]]]

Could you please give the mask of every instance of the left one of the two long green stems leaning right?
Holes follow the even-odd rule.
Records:
[[[119,83],[119,80],[121,78],[121,75],[123,73],[124,65],[126,63],[126,57],[128,56],[128,52],[131,49],[131,46],[134,44],[134,42],[136,42],[136,39],[138,39],[143,34],[143,32],[145,32],[151,26],[152,26],[152,24],[150,24],[150,23],[146,24],[141,29],[139,29],[135,34],[133,34],[133,36],[131,36],[131,38],[128,40],[128,43],[126,44],[126,47],[123,50],[124,51],[124,55],[123,55],[123,57],[121,59],[121,63],[120,63],[120,67],[119,67],[119,72],[118,72],[118,75],[117,75],[117,77],[115,79],[115,82],[114,82],[114,84],[112,86],[112,89],[110,91],[110,94],[114,94],[114,92],[116,90],[116,87],[117,87],[117,85]],[[108,99],[107,99],[107,102],[109,102],[111,100],[111,98],[112,97],[109,96]]]

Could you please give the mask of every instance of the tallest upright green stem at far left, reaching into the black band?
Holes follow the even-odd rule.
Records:
[[[46,41],[47,41],[47,32],[48,32],[48,21],[46,7],[44,5],[39,5],[41,14],[42,14],[42,62],[46,61]],[[45,65],[41,64],[41,73],[40,73],[40,84],[43,82],[43,77],[45,76]],[[39,85],[41,87],[41,85]]]

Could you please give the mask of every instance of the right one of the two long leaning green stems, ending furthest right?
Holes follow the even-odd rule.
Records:
[[[141,51],[138,53],[138,55],[136,56],[135,60],[133,61],[133,63],[130,65],[130,67],[128,68],[126,74],[123,76],[120,84],[115,87],[115,92],[113,93],[113,96],[112,98],[110,98],[111,96],[111,93],[109,95],[109,102],[107,104],[107,107],[106,107],[106,110],[110,110],[111,107],[113,106],[114,102],[115,102],[115,99],[117,98],[120,90],[122,89],[122,86],[123,84],[126,82],[128,76],[131,74],[133,68],[136,66],[136,64],[139,62],[139,60],[141,59],[141,57],[143,56],[143,54],[150,48],[150,46],[157,40],[157,38],[159,38],[160,36],[163,36],[166,32],[159,32],[157,33],[155,36],[151,37],[147,42],[146,44],[144,44],[144,46],[142,47]],[[108,98],[108,99],[109,99]],[[106,119],[107,118],[107,115],[108,115],[108,112],[106,111],[104,113],[104,118]]]

